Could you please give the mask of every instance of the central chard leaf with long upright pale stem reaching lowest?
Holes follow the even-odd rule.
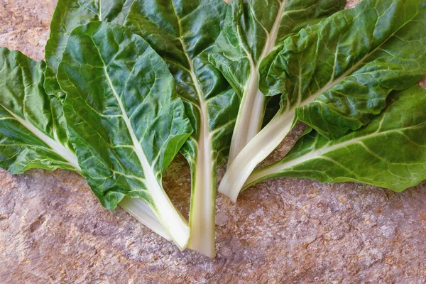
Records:
[[[217,167],[229,151],[238,97],[208,61],[220,33],[221,0],[136,0],[125,25],[168,64],[195,129],[182,148],[192,175],[188,247],[214,256]]]

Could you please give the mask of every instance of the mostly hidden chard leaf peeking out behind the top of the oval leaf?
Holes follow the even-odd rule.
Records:
[[[133,0],[59,0],[50,23],[50,38],[45,47],[44,87],[48,94],[63,97],[56,80],[58,65],[71,31],[90,21],[124,23]]]

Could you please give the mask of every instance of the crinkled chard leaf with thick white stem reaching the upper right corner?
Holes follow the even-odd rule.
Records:
[[[341,136],[379,114],[391,91],[425,75],[425,1],[362,1],[302,29],[263,60],[260,87],[283,94],[280,111],[229,165],[219,191],[236,201],[297,119],[328,138]]]

